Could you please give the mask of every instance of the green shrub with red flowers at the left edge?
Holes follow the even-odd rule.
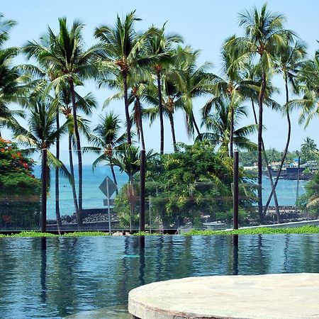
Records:
[[[0,228],[34,229],[40,220],[40,180],[33,159],[0,138]]]

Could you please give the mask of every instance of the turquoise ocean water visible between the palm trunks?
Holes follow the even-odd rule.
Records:
[[[74,171],[77,172],[77,167],[74,167]],[[121,188],[128,182],[128,177],[125,173],[121,173],[117,167],[115,167],[116,179],[118,181],[118,187]],[[40,177],[40,167],[35,167],[35,176]],[[99,166],[94,170],[91,165],[83,166],[83,208],[104,208],[103,199],[106,196],[101,192],[99,186],[103,179],[106,177],[112,179],[111,169],[108,166]],[[299,195],[304,194],[305,181],[300,181]],[[271,186],[269,179],[264,177],[263,179],[263,202],[266,203]],[[281,179],[276,187],[276,194],[278,197],[279,205],[292,206],[296,203],[297,194],[297,181],[290,181]],[[112,198],[114,198],[113,194]],[[270,205],[274,205],[272,200]],[[69,181],[60,177],[60,212],[61,215],[72,215],[74,213],[74,204],[72,189],[69,185]],[[47,219],[55,219],[55,174],[52,172],[50,193],[47,198]]]

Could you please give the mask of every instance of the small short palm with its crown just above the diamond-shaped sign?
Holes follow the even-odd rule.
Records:
[[[100,123],[93,129],[93,134],[89,137],[89,142],[94,146],[83,147],[85,152],[92,151],[102,154],[95,159],[92,166],[96,167],[99,163],[106,161],[111,167],[113,181],[117,185],[116,174],[112,158],[117,148],[125,142],[126,135],[120,134],[121,120],[114,113],[107,113],[105,117],[100,116]],[[118,192],[118,190],[116,190]]]

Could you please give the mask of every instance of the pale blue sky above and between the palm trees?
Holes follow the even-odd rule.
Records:
[[[50,26],[57,30],[57,19],[66,16],[69,23],[74,19],[84,22],[84,40],[89,47],[96,43],[93,33],[97,26],[102,24],[114,25],[116,15],[124,17],[126,13],[136,10],[136,15],[142,18],[135,24],[136,30],[146,30],[149,26],[162,26],[166,21],[168,33],[179,33],[184,38],[185,45],[191,45],[196,50],[201,50],[199,64],[209,61],[213,63],[211,72],[220,73],[220,47],[225,38],[230,35],[243,35],[243,30],[238,26],[238,13],[257,6],[260,8],[264,1],[251,0],[225,0],[225,1],[107,1],[107,0],[55,0],[55,1],[1,1],[1,13],[6,18],[17,21],[18,25],[11,30],[11,38],[7,45],[23,45],[27,40],[38,40]],[[268,1],[271,11],[283,13],[286,16],[286,28],[295,31],[298,36],[308,44],[308,53],[314,55],[319,48],[319,2],[315,0],[270,0]],[[284,102],[284,87],[280,77],[276,77],[275,84],[281,89],[281,94],[275,96],[279,103]],[[83,93],[93,91],[99,109],[94,111],[91,118],[92,123],[99,121],[99,115],[106,111],[115,111],[124,116],[124,105],[122,101],[112,102],[106,109],[101,108],[103,101],[112,94],[108,89],[97,89],[96,84],[88,83]],[[207,97],[208,99],[208,97]],[[199,110],[206,99],[194,101],[194,112],[198,123],[200,123]],[[249,106],[249,105],[247,105]],[[177,130],[177,141],[191,143],[192,140],[186,135],[184,115],[180,112],[175,114]],[[253,123],[252,114],[242,122]],[[319,145],[318,138],[319,118],[314,118],[308,128],[298,124],[298,111],[292,115],[292,134],[289,150],[300,149],[301,143],[306,137],[313,138]],[[169,130],[169,122],[165,121],[165,152],[172,151],[172,138]],[[265,110],[264,112],[264,143],[267,148],[274,147],[284,150],[286,142],[286,120],[279,113]],[[7,133],[8,134],[8,133]],[[251,136],[257,140],[257,135]],[[155,121],[152,127],[145,122],[145,144],[147,149],[159,150],[159,123]],[[82,143],[85,145],[85,142]],[[67,141],[62,143],[62,149],[67,157]],[[63,154],[63,152],[62,152]],[[93,155],[86,155],[84,162],[91,162]]]

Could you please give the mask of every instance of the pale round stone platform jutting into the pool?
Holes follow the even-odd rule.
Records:
[[[140,319],[319,318],[319,274],[160,281],[130,291],[128,311]]]

